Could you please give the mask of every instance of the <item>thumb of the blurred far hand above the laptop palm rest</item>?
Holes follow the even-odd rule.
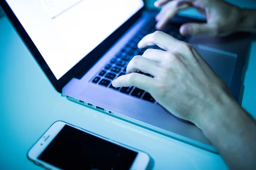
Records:
[[[180,27],[180,34],[182,35],[215,35],[215,33],[215,27],[209,23],[187,23]]]

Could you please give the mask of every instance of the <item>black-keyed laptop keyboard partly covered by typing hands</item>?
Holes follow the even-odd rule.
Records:
[[[156,21],[152,18],[143,28],[141,28],[138,33],[127,42],[124,47],[113,57],[99,73],[93,77],[92,83],[103,86],[105,88],[110,88],[114,91],[119,91],[122,94],[130,95],[136,98],[143,99],[148,102],[155,103],[155,99],[146,91],[135,87],[121,87],[115,88],[111,84],[113,79],[119,76],[125,75],[126,66],[131,61],[131,59],[136,55],[142,55],[146,49],[140,49],[137,47],[138,42],[147,34],[153,33],[155,29]],[[163,31],[167,34],[175,37],[178,40],[187,42],[189,37],[184,37],[180,35],[179,28],[180,24],[170,23]],[[161,49],[158,46],[150,46],[148,48]],[[144,73],[142,73],[144,74]],[[149,74],[145,74],[152,77]]]

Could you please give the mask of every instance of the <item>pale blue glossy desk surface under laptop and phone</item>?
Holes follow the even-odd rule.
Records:
[[[256,42],[245,79],[243,106],[256,115]],[[227,169],[220,156],[145,130],[61,97],[50,85],[6,18],[0,18],[0,169],[41,169],[26,153],[57,120],[144,150],[155,170]],[[254,94],[254,95],[253,95]]]

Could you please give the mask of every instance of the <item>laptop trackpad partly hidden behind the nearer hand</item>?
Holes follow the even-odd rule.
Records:
[[[195,48],[215,73],[222,79],[222,81],[230,87],[236,66],[237,54],[204,45],[195,45]]]

